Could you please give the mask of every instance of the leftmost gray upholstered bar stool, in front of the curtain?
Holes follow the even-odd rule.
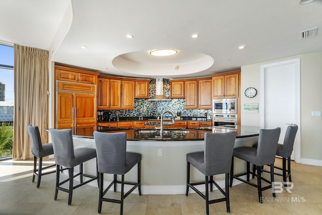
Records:
[[[28,133],[31,142],[31,153],[34,155],[34,170],[32,176],[32,182],[35,181],[35,176],[38,177],[37,185],[38,188],[40,186],[40,180],[42,175],[47,175],[50,173],[56,172],[56,170],[42,172],[42,170],[53,168],[55,164],[42,167],[42,158],[54,154],[52,143],[42,144],[40,132],[37,126],[28,125]],[[39,159],[38,162],[38,169],[37,169],[37,158]]]

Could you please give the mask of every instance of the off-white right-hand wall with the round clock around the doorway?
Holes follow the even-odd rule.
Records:
[[[260,104],[261,65],[300,58],[301,64],[301,163],[322,166],[322,117],[311,116],[311,111],[322,111],[322,52],[301,54],[281,59],[241,66],[241,107],[245,103]],[[278,78],[278,77],[277,77]],[[256,97],[244,95],[248,87],[258,90]],[[241,110],[241,125],[260,126],[260,113]]]

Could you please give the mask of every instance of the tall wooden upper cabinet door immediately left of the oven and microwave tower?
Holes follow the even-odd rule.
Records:
[[[198,80],[198,108],[211,109],[211,83],[212,79],[200,79]]]

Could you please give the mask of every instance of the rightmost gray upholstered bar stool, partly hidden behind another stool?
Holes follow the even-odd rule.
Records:
[[[298,126],[296,124],[289,125],[285,132],[283,144],[277,145],[276,155],[282,157],[282,168],[274,166],[274,168],[282,170],[282,174],[274,172],[275,175],[283,176],[284,186],[286,187],[287,178],[289,182],[291,179],[291,154],[293,152],[294,140],[297,133]],[[255,146],[257,147],[257,146]],[[287,161],[287,168],[286,168]],[[253,176],[256,171],[256,165],[253,166]],[[262,172],[270,172],[262,168]]]

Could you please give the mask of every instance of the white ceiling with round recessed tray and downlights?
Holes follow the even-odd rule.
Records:
[[[322,0],[0,0],[0,8],[0,41],[116,76],[202,77],[322,51]],[[300,39],[315,27],[317,36]],[[165,48],[179,51],[173,58],[149,55]]]

